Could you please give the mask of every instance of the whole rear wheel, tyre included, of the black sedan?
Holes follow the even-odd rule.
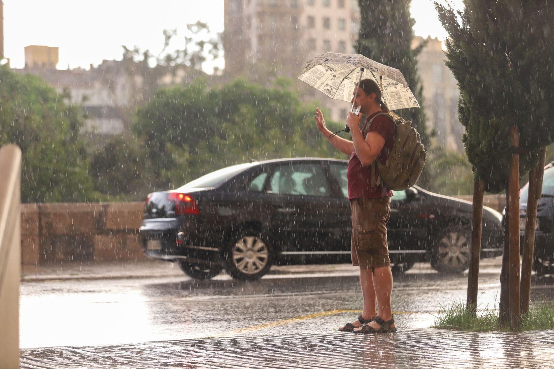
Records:
[[[255,230],[244,230],[232,237],[225,248],[225,269],[239,280],[256,280],[273,264],[273,250],[265,236]]]

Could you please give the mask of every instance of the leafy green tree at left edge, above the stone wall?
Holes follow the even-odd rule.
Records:
[[[0,145],[22,150],[22,202],[98,198],[79,139],[82,122],[80,107],[39,77],[0,66]]]

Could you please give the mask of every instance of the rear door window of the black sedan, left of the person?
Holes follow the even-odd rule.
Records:
[[[318,164],[285,164],[273,171],[270,190],[274,194],[329,197],[329,181]]]

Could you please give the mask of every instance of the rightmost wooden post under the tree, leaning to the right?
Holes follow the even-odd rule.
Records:
[[[527,192],[527,213],[525,216],[525,237],[523,243],[523,258],[521,262],[521,314],[529,311],[529,299],[531,293],[531,266],[535,252],[535,224],[537,220],[537,200],[541,198],[541,189],[538,178],[545,171],[546,148],[540,151],[541,160],[537,166],[529,172],[529,191]],[[542,178],[541,178],[542,183]]]

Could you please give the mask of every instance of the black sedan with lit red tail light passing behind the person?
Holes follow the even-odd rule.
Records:
[[[193,278],[224,268],[253,280],[272,264],[350,261],[346,160],[293,158],[220,169],[149,194],[140,227],[148,257],[178,262]],[[471,203],[413,186],[396,191],[388,222],[393,272],[429,261],[469,267]],[[501,215],[485,207],[483,256],[500,250]]]

